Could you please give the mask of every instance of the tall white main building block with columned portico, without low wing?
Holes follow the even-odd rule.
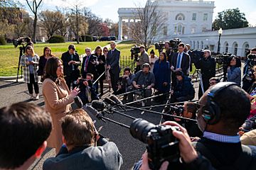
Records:
[[[151,1],[151,0],[149,0]],[[159,30],[159,39],[170,35],[201,33],[211,30],[213,23],[213,1],[155,0],[157,11],[167,18],[164,28]],[[119,40],[122,39],[122,22],[136,20],[136,8],[119,8]],[[129,38],[129,35],[127,35]]]

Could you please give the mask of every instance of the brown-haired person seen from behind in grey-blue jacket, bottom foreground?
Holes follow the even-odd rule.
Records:
[[[120,169],[123,160],[117,146],[95,131],[84,110],[65,115],[61,128],[63,146],[56,157],[46,159],[43,170]]]

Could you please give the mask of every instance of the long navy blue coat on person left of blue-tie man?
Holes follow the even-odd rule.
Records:
[[[153,73],[155,76],[155,88],[161,92],[167,92],[170,90],[171,84],[171,69],[169,62],[159,62],[156,60],[154,64]],[[167,82],[167,86],[164,86],[164,82]]]

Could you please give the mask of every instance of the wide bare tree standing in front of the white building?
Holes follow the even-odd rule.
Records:
[[[162,30],[166,18],[158,10],[157,1],[146,1],[144,8],[138,7],[134,11],[134,18],[138,22],[132,23],[131,35],[137,44],[142,44],[149,49],[158,36],[158,30]]]

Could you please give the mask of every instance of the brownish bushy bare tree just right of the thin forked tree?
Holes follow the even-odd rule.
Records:
[[[60,30],[63,21],[65,22],[65,16],[60,11],[42,11],[40,16],[41,27],[46,31],[48,39]]]

